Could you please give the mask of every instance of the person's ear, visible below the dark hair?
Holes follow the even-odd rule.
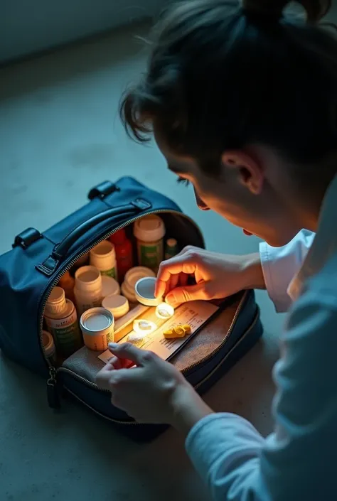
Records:
[[[262,166],[252,156],[240,150],[226,151],[221,156],[221,162],[224,167],[235,169],[239,182],[253,195],[260,195],[264,175]]]

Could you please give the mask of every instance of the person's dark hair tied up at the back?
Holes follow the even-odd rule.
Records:
[[[146,73],[121,104],[127,131],[153,128],[214,173],[221,153],[265,144],[296,163],[337,149],[337,41],[318,22],[330,0],[189,0],[151,36]],[[212,172],[213,170],[213,172]]]

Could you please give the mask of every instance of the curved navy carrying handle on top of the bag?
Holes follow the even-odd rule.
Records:
[[[127,205],[120,205],[113,209],[108,209],[95,216],[90,217],[85,222],[82,222],[74,230],[72,230],[65,238],[57,244],[53,249],[53,252],[47,259],[36,266],[38,271],[41,271],[46,276],[50,276],[54,273],[55,269],[60,265],[61,262],[65,261],[68,257],[69,251],[73,244],[77,242],[78,239],[83,237],[85,233],[91,230],[93,227],[100,225],[101,222],[108,221],[110,219],[114,220],[114,225],[118,226],[125,220],[129,219],[132,215],[137,215],[137,213],[143,210],[151,209],[152,205],[147,200],[142,198],[137,198]]]

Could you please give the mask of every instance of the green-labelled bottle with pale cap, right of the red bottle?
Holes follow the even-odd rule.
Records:
[[[153,271],[158,271],[164,257],[164,221],[157,215],[141,217],[134,223],[134,236],[137,238],[138,262]]]

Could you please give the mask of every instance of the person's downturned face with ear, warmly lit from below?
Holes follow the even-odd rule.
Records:
[[[179,180],[191,183],[200,210],[214,210],[246,235],[257,235],[274,247],[289,242],[301,226],[296,222],[280,160],[261,148],[228,151],[219,171],[208,176],[188,156],[177,156],[155,134],[168,168]],[[284,171],[284,169],[283,169]]]

